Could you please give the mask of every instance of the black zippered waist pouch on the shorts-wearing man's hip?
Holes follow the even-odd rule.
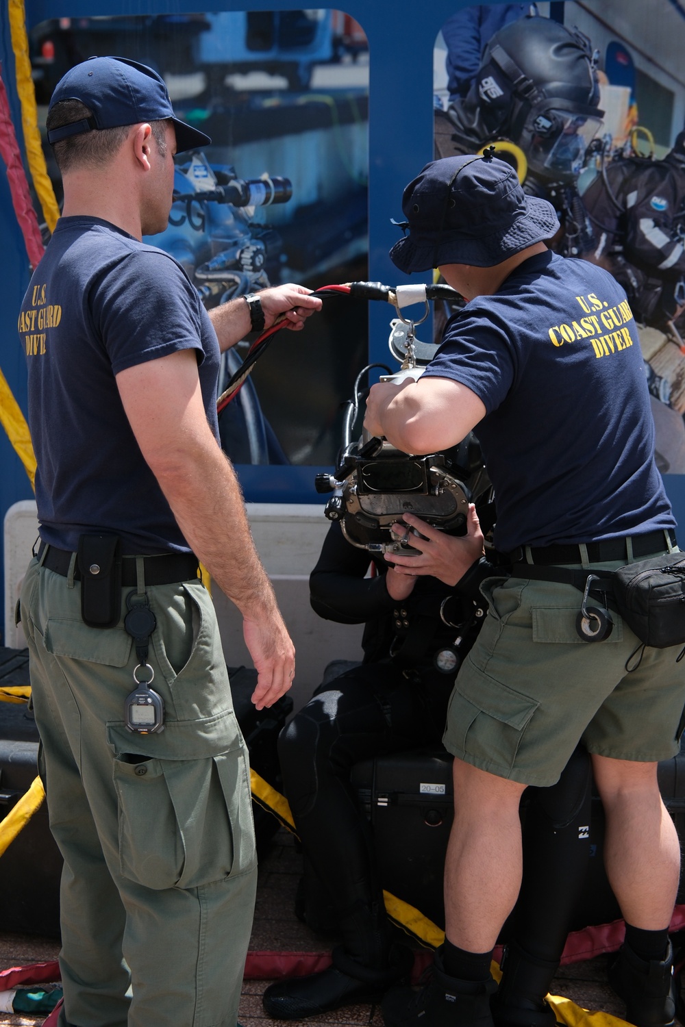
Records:
[[[645,645],[685,645],[685,554],[619,567],[611,575],[616,607]]]

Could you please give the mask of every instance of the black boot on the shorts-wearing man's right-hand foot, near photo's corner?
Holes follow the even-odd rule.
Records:
[[[661,962],[640,959],[623,944],[609,967],[609,984],[625,1002],[629,1023],[636,1027],[672,1027],[678,996],[671,941]]]

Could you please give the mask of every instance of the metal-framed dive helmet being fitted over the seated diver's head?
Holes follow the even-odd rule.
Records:
[[[450,534],[465,534],[468,503],[489,493],[481,448],[473,435],[446,453],[427,456],[403,453],[385,439],[370,438],[366,430],[360,439],[354,439],[365,377],[373,368],[387,372],[380,378],[384,382],[420,377],[437,346],[419,342],[415,328],[428,315],[428,300],[446,299],[448,293],[451,298],[458,295],[443,284],[399,286],[390,291],[397,317],[390,322],[389,348],[402,367],[392,373],[384,365],[372,364],[358,374],[354,395],[345,410],[338,466],[334,474],[316,476],[317,492],[335,492],[326,505],[326,516],[340,524],[348,542],[370,553],[413,551],[410,543],[390,531],[403,514],[414,514]],[[425,303],[423,317],[407,320],[402,309],[421,301]]]

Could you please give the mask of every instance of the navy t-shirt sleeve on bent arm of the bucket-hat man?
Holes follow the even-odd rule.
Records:
[[[467,307],[447,322],[443,341],[424,377],[450,378],[466,385],[490,414],[511,388],[517,364],[503,324],[485,311]]]

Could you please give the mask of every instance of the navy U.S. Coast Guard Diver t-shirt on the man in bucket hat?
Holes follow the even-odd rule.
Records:
[[[675,527],[625,293],[547,251],[452,317],[425,375],[467,385],[495,489],[497,548]]]

